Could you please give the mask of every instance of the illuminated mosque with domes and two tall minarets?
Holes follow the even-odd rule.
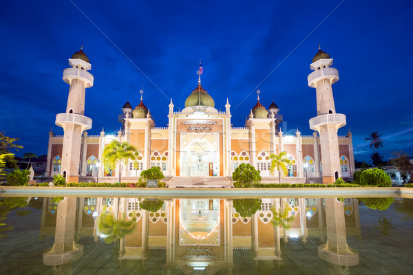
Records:
[[[313,135],[284,135],[279,124],[283,116],[272,102],[268,109],[260,102],[251,104],[244,127],[231,124],[231,104],[227,99],[225,111],[215,109],[211,95],[201,86],[189,93],[185,108],[174,109],[171,99],[167,126],[157,127],[150,108],[140,103],[134,108],[127,101],[118,120],[122,124],[118,135],[88,135],[92,119],[85,116],[85,90],[92,87],[92,65],[81,49],[69,59],[70,67],[63,70],[63,80],[70,85],[65,113],[56,115],[56,125],[64,135],[49,133],[47,149],[48,176],[62,174],[67,181],[116,182],[138,181],[140,172],[158,166],[170,186],[185,182],[200,182],[204,186],[226,186],[235,168],[242,163],[260,170],[264,182],[276,182],[278,172],[270,173],[270,154],[287,153],[291,161],[283,182],[331,184],[337,177],[352,177],[354,156],[352,133],[337,135],[346,125],[346,115],[336,113],[332,84],[339,80],[338,70],[331,67],[332,58],[319,50],[314,56],[308,75],[308,86],[315,88],[317,116],[309,120]],[[202,67],[198,74],[202,74]],[[194,85],[195,86],[195,85]],[[153,104],[153,103],[152,103]],[[112,140],[136,146],[136,161],[116,167],[109,173],[100,168],[103,150]]]

